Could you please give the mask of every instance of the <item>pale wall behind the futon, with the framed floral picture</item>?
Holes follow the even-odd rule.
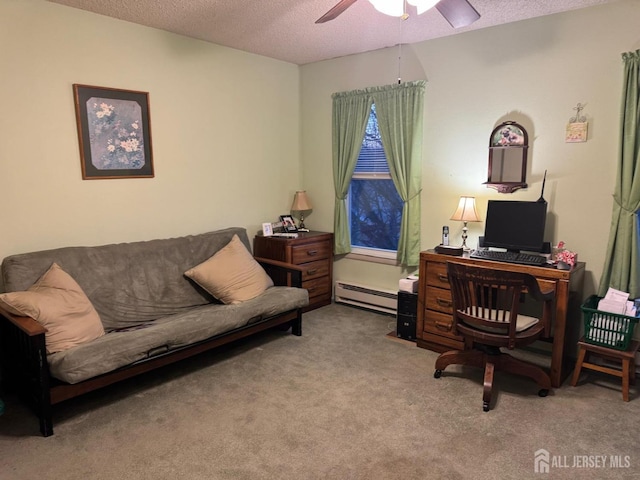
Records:
[[[0,0],[0,258],[222,228],[300,188],[296,65],[41,0]],[[72,84],[149,92],[153,179],[83,181]]]

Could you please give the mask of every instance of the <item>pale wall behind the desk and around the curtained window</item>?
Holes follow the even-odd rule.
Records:
[[[462,224],[449,220],[460,195],[536,200],[547,170],[547,237],[563,240],[587,263],[585,294],[602,273],[618,151],[622,63],[640,48],[635,0],[567,12],[402,47],[404,81],[426,79],[422,246],[440,241],[443,225],[460,243]],[[309,225],[331,229],[331,94],[395,83],[397,47],[309,64],[302,78],[302,171],[317,208]],[[586,105],[586,143],[564,142],[577,103]],[[529,188],[505,195],[488,189],[491,130],[516,120],[529,132]],[[469,224],[469,245],[483,223]],[[397,288],[407,272],[339,259],[336,279]]]

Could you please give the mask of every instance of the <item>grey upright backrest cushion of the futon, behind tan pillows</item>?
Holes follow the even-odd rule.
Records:
[[[106,331],[148,323],[214,301],[183,274],[227,245],[234,235],[251,251],[244,228],[96,247],[66,247],[7,257],[7,292],[26,290],[57,263],[98,311]]]

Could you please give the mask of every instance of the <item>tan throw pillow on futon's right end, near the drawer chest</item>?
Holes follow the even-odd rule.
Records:
[[[185,275],[225,304],[250,300],[273,286],[271,277],[237,235],[211,258]]]

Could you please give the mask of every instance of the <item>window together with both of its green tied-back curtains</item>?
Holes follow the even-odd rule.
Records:
[[[420,263],[425,85],[424,80],[419,80],[332,95],[332,165],[336,188],[333,250],[336,255],[354,252],[355,247],[355,253],[362,254],[364,252],[357,250],[365,249],[368,250],[365,254],[386,257],[373,258],[372,261],[376,262],[406,266],[417,266]],[[372,116],[372,103],[375,104],[372,125],[363,139],[361,137],[364,136],[367,120]],[[378,117],[383,111],[388,111],[389,114]],[[385,135],[385,142],[388,140],[387,147],[393,150],[385,152],[386,162],[372,162],[373,165],[384,166],[385,170],[371,171],[371,166],[358,168],[355,186],[350,188],[363,141],[362,162],[372,146],[372,140],[378,150],[384,151],[376,124],[384,132],[389,128],[389,138]],[[398,196],[402,198],[402,202],[390,188],[391,174],[394,181],[398,182]],[[368,184],[372,189],[369,191],[373,192],[369,198],[366,198],[369,193],[367,188],[358,189],[357,184],[361,183],[358,180],[368,180],[364,184]],[[392,198],[395,200],[391,200]]]

